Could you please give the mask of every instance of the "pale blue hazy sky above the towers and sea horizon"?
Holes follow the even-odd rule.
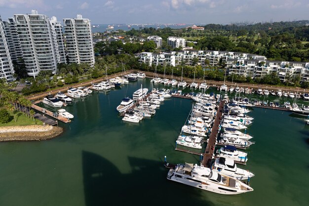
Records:
[[[14,14],[75,18],[92,24],[230,24],[308,20],[309,0],[0,0],[2,20]]]

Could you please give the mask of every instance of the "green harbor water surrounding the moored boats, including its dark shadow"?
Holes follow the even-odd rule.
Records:
[[[164,101],[153,118],[139,124],[122,122],[117,115],[121,99],[132,97],[142,83],[151,90],[150,80],[145,79],[76,100],[66,108],[75,118],[61,124],[65,133],[60,137],[1,142],[0,206],[308,205],[309,126],[305,117],[262,108],[248,113],[255,119],[247,133],[256,143],[246,150],[247,165],[239,167],[255,173],[250,180],[254,191],[219,195],[166,179],[164,155],[170,163],[199,162],[197,155],[174,150],[191,100]],[[264,97],[252,95],[250,99]],[[287,101],[271,96],[269,100]]]

